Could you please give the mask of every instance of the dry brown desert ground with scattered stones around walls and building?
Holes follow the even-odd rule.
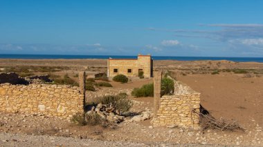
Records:
[[[24,70],[26,69],[26,70]],[[78,81],[107,71],[105,59],[0,59],[0,72],[21,75],[65,75]],[[78,126],[42,115],[0,114],[0,146],[263,146],[263,63],[233,61],[154,61],[154,70],[173,76],[201,92],[201,105],[216,118],[233,119],[246,131],[183,130],[153,128],[151,119],[123,121],[114,128]],[[109,81],[113,87],[87,91],[92,101],[102,95],[126,92],[134,101],[132,112],[153,110],[153,98],[134,98],[131,90],[153,79],[131,79],[127,84]]]

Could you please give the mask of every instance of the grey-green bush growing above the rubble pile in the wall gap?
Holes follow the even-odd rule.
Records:
[[[127,112],[133,105],[130,99],[127,99],[126,93],[120,93],[118,95],[107,95],[104,97],[100,97],[97,103],[111,105],[116,110],[120,112]]]

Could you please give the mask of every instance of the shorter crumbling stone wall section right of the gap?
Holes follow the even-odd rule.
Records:
[[[156,117],[152,120],[154,126],[172,126],[198,130],[200,93],[189,86],[174,80],[174,95],[163,95],[158,103]]]

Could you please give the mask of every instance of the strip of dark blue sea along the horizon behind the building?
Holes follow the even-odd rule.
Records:
[[[136,59],[137,56],[119,55],[19,55],[0,54],[0,59]],[[228,60],[235,62],[262,62],[263,57],[177,57],[177,56],[152,56],[154,60],[178,60],[178,61],[200,61],[200,60]]]

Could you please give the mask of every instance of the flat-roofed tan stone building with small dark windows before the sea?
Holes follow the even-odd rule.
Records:
[[[152,57],[151,55],[138,55],[137,59],[108,59],[107,77],[116,75],[126,75],[127,77],[138,77],[139,72],[143,72],[145,78],[152,77]]]

